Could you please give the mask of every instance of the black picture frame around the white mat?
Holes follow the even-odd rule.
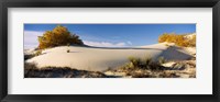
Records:
[[[213,94],[8,94],[8,8],[212,8]],[[220,102],[220,0],[2,0],[0,2],[1,102]]]

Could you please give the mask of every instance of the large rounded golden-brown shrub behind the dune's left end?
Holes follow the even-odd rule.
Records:
[[[38,36],[38,48],[63,46],[67,44],[84,45],[79,36],[72,34],[66,27],[57,25],[52,31],[46,31],[43,36]]]

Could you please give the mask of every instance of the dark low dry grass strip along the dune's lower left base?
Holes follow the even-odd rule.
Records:
[[[24,64],[24,78],[109,78],[102,72],[72,69],[69,67],[46,67],[38,69],[35,64]]]

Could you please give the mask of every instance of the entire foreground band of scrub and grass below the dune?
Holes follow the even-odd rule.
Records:
[[[151,58],[129,57],[129,63],[117,69],[109,68],[105,72],[77,70],[69,67],[37,68],[35,64],[24,64],[25,78],[195,78],[196,60],[175,61],[170,67],[163,64],[169,63],[163,57],[158,60]],[[120,73],[121,76],[106,75],[106,72]]]

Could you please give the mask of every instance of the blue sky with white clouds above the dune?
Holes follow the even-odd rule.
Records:
[[[37,36],[57,24],[24,24],[24,47],[37,46]],[[196,33],[196,24],[61,24],[82,42],[99,47],[143,46],[157,43],[163,33]]]

